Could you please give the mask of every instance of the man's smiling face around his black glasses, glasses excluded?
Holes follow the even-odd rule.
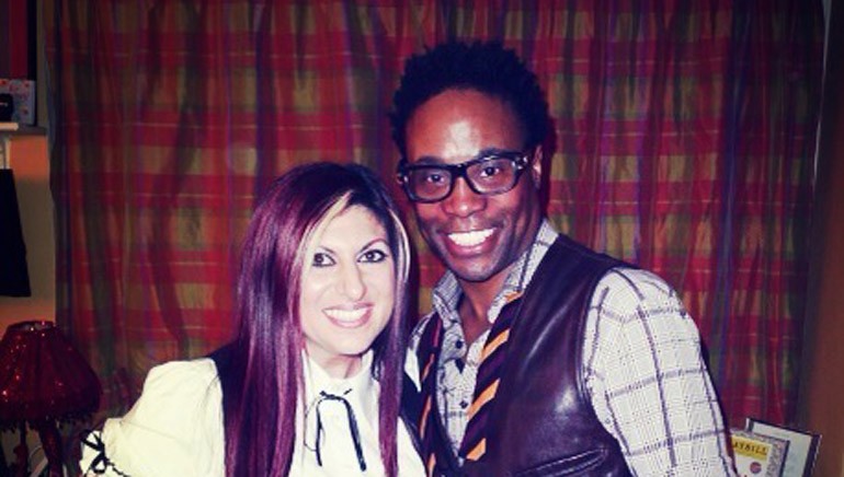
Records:
[[[474,90],[447,90],[423,103],[407,125],[411,164],[459,164],[491,150],[521,151],[524,131],[512,108]],[[502,280],[539,226],[538,150],[512,190],[483,196],[464,178],[445,199],[414,202],[422,235],[461,280]],[[534,156],[535,155],[535,156]]]

